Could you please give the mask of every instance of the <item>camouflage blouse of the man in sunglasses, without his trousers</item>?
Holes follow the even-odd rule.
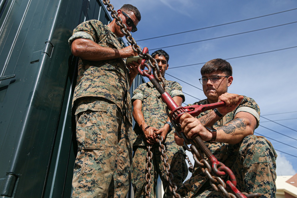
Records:
[[[89,39],[102,47],[121,49],[124,44],[106,25],[98,20],[88,20],[78,25],[72,37],[69,38],[69,46],[75,39]],[[72,111],[76,115],[82,110],[91,109],[96,105],[85,104],[85,100],[94,101],[93,97],[101,97],[114,102],[129,118],[132,123],[132,105],[129,93],[129,70],[125,59],[114,58],[103,61],[88,61],[79,58],[78,77],[73,94]],[[87,97],[87,98],[86,98]],[[78,99],[83,99],[83,107],[79,107]]]

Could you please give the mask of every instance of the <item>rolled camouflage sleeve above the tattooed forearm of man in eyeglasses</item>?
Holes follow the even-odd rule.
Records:
[[[257,120],[256,128],[259,126],[259,124],[260,124],[260,107],[258,106],[258,104],[255,102],[254,99],[244,96],[244,99],[238,105],[238,108],[236,109],[234,116],[238,112],[241,112],[241,111],[252,114]]]

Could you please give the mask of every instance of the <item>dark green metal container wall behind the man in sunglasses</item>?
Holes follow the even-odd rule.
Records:
[[[77,58],[67,41],[84,20],[108,24],[102,6],[101,0],[0,1],[0,77],[15,75],[0,81],[1,197],[70,197]],[[143,82],[137,77],[133,90]]]

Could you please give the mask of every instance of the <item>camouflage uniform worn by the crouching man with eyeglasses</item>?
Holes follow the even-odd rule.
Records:
[[[195,104],[209,104],[208,100],[201,100]],[[201,113],[197,118],[209,113],[212,110]],[[244,99],[233,111],[225,115],[214,124],[214,127],[223,126],[234,119],[236,113],[244,111],[251,113],[257,120],[257,127],[260,120],[260,108],[252,99],[244,96]],[[257,128],[256,127],[256,128]],[[241,192],[261,193],[264,197],[276,196],[276,157],[277,154],[272,144],[262,136],[248,135],[237,144],[221,142],[208,143],[218,161],[229,167],[237,180],[237,188]],[[205,157],[205,155],[204,155]],[[225,180],[226,178],[224,178]],[[226,181],[226,180],[225,180]],[[201,169],[195,166],[192,177],[185,181],[178,191],[184,197],[224,197],[212,189],[209,180],[202,173]]]

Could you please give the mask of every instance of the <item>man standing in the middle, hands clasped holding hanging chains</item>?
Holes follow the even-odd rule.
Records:
[[[169,55],[164,50],[157,50],[151,54],[156,59],[162,76],[168,69]],[[178,106],[184,102],[184,94],[181,85],[175,81],[165,79],[165,91],[167,91]],[[172,124],[166,114],[166,104],[162,102],[161,96],[151,82],[143,83],[133,92],[133,117],[136,121],[134,132],[137,136],[133,143],[132,160],[132,185],[135,198],[143,197],[145,194],[146,174],[146,153],[147,146],[152,146],[153,157],[151,160],[151,197],[156,197],[157,179],[160,176],[164,189],[164,198],[172,197],[169,183],[166,180],[166,172],[163,169],[164,162],[161,161],[161,152],[156,135],[163,137],[162,144],[165,145],[165,154],[168,156],[170,172],[173,173],[173,182],[179,188],[188,174],[188,167],[185,161],[186,154],[181,146],[174,141]]]

